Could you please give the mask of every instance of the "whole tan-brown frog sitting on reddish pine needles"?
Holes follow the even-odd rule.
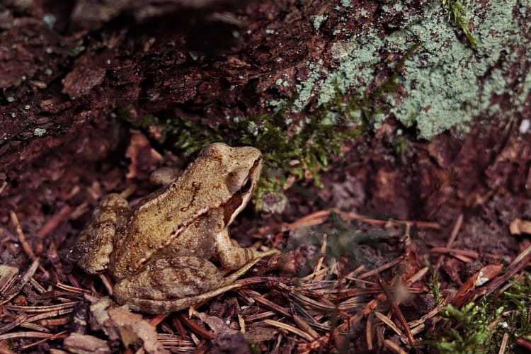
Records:
[[[241,286],[237,278],[280,253],[244,248],[229,237],[256,189],[262,160],[254,147],[216,142],[134,207],[118,193],[105,196],[71,258],[86,273],[107,272],[118,304],[149,314],[176,312]]]

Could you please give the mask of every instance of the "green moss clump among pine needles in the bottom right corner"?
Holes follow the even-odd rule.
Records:
[[[460,310],[448,305],[442,315],[451,321],[452,329],[426,343],[441,353],[498,353],[504,333],[509,334],[510,344],[531,332],[530,294],[531,277],[526,273],[524,280],[498,298],[489,296]]]

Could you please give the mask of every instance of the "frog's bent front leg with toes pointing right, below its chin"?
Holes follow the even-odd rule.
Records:
[[[261,252],[256,249],[234,246],[227,229],[223,229],[222,232],[219,232],[219,234],[216,235],[216,255],[219,258],[219,263],[229,270],[238,269],[244,267],[244,265],[250,264],[249,267],[245,267],[245,270],[248,270],[254,263],[256,263],[253,261],[259,261],[260,258],[275,253],[280,253],[280,251],[273,250]],[[245,273],[245,271],[243,273]]]

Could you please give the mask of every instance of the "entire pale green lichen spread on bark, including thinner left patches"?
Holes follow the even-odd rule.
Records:
[[[513,16],[529,16],[531,0],[468,1],[465,5],[476,47],[455,30],[440,2],[433,1],[420,13],[404,16],[403,28],[394,33],[364,30],[334,42],[332,59],[340,62],[336,68],[326,70],[319,63],[307,63],[309,74],[297,85],[292,111],[302,110],[312,98],[317,105],[329,103],[336,91],[365,93],[375,79],[375,64],[382,61],[380,53],[403,55],[414,42],[420,47],[405,62],[398,80],[406,95],[396,102],[389,95],[387,104],[404,125],[416,125],[420,137],[429,138],[454,126],[466,130],[467,122],[484,113],[507,117],[523,110],[531,91],[531,52],[523,50],[531,45],[525,36],[531,21],[517,21]],[[392,10],[405,6],[406,2],[399,1]],[[382,11],[386,8],[391,11],[389,6],[382,6]],[[364,11],[360,9],[360,13]],[[523,56],[527,64],[520,64]],[[514,81],[515,70],[518,82]],[[494,110],[494,96],[506,97],[512,108]],[[387,117],[387,111],[379,111],[372,122],[377,125]]]

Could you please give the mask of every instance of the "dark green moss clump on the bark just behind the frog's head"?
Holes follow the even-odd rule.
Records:
[[[134,124],[137,127],[161,127],[159,142],[184,156],[197,154],[207,144],[220,141],[260,149],[265,173],[257,188],[257,206],[262,208],[261,197],[265,193],[275,193],[282,198],[287,176],[314,178],[314,183],[321,185],[319,171],[326,169],[330,156],[341,154],[343,142],[360,134],[365,126],[360,115],[353,112],[356,107],[358,105],[353,101],[343,103],[337,96],[336,100],[322,105],[300,122],[295,134],[290,134],[287,129],[290,121],[284,118],[290,103],[273,115],[255,115],[245,120],[233,118],[217,126],[154,115]]]

